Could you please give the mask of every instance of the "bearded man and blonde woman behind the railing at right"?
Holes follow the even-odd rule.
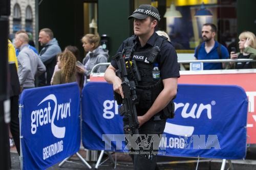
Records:
[[[213,23],[205,23],[202,27],[203,42],[195,49],[195,57],[199,60],[212,59],[256,59],[256,37],[252,32],[244,31],[239,35],[239,52],[231,51],[215,40],[217,27]],[[256,68],[256,62],[204,63],[203,69],[250,69]]]

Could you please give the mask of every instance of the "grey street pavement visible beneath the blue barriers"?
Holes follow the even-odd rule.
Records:
[[[80,155],[83,158],[86,158],[86,151],[84,149],[80,149]],[[99,154],[98,154],[99,155]],[[124,155],[122,153],[112,153],[113,158],[116,158],[116,169],[127,170],[133,169],[132,161],[129,155]],[[107,159],[108,156],[104,155],[102,160]],[[251,170],[256,169],[256,149],[251,150],[247,153],[245,160],[232,160],[232,165],[234,169],[243,169],[243,170]],[[15,148],[11,149],[11,161],[12,161],[12,169],[20,169],[20,162],[18,158],[18,154]],[[88,162],[93,168],[95,167],[96,162]],[[220,159],[201,159],[198,165],[199,170],[204,169],[221,169],[222,160]],[[178,169],[178,170],[189,170],[196,169],[197,167],[197,159],[193,158],[181,158],[181,157],[167,157],[161,156],[158,158],[158,165],[160,169]],[[225,169],[228,169],[228,163],[226,163]],[[62,167],[58,167],[58,164],[49,167],[48,169],[61,169],[61,170],[71,170],[71,169],[89,169],[86,165],[84,165],[79,158],[74,155],[72,158],[62,165]],[[102,163],[98,169],[114,169],[114,164],[108,159],[104,163]]]

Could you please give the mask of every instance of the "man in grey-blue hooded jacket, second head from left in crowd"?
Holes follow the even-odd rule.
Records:
[[[45,28],[39,32],[39,43],[43,46],[39,53],[39,58],[46,66],[46,75],[42,74],[38,78],[38,86],[51,85],[51,79],[56,65],[56,56],[61,53],[58,41],[53,38],[52,30]]]

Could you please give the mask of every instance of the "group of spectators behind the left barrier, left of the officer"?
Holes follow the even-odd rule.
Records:
[[[45,28],[39,32],[39,43],[42,47],[38,53],[29,44],[29,36],[25,31],[15,34],[14,43],[8,40],[8,59],[10,70],[9,96],[11,103],[10,147],[16,146],[20,155],[18,100],[24,89],[77,82],[80,90],[90,78],[94,65],[107,62],[108,50],[100,45],[99,35],[86,34],[81,39],[84,51],[87,52],[82,64],[76,46],[68,45],[61,48],[52,30]],[[104,71],[101,67],[96,71]]]

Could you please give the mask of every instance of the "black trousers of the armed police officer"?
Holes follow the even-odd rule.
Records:
[[[131,150],[133,152],[136,152],[136,154],[131,155],[133,158],[134,169],[136,170],[159,169],[157,166],[157,155],[156,155],[156,153],[158,152],[158,149],[154,149],[153,146],[154,145],[159,146],[160,140],[154,140],[154,145],[153,145],[152,137],[154,135],[160,136],[161,134],[163,134],[165,123],[166,123],[165,118],[161,120],[153,120],[152,118],[139,128],[140,137],[138,138],[138,144],[141,143],[142,140],[145,140],[147,144],[144,144],[144,146],[143,144],[139,145],[139,150],[137,152],[136,150]],[[126,125],[126,122],[124,122],[124,125]]]

